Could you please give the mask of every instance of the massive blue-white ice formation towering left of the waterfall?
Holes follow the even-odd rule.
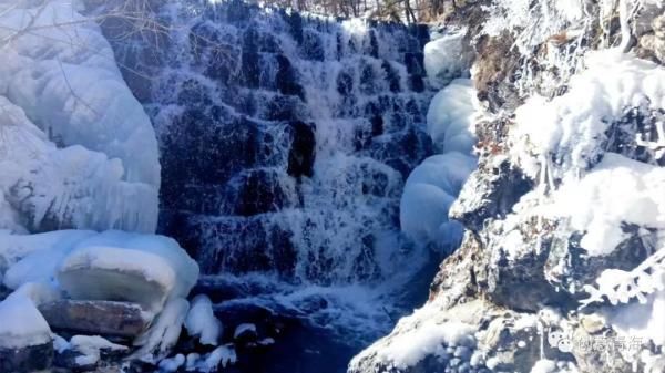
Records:
[[[70,1],[30,4],[0,13],[0,228],[154,231],[156,138],[109,43]]]

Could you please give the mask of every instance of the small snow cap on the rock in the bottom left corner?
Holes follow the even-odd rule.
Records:
[[[32,300],[12,293],[0,302],[0,348],[21,349],[51,342],[51,329]]]

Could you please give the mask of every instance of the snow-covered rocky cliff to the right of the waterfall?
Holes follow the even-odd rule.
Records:
[[[463,1],[479,167],[424,307],[349,372],[662,372],[663,4]]]

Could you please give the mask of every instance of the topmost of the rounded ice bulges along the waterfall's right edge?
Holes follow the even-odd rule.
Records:
[[[470,55],[464,50],[467,29],[432,33],[424,44],[424,70],[430,85],[442,89],[453,79],[468,74]]]

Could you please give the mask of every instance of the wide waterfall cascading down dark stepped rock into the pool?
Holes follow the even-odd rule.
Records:
[[[385,332],[398,301],[376,297],[428,262],[399,234],[405,179],[432,153],[428,29],[238,1],[155,18],[168,38],[103,27],[160,141],[161,231],[202,283],[269,288],[245,300],[355,330],[356,344]]]

